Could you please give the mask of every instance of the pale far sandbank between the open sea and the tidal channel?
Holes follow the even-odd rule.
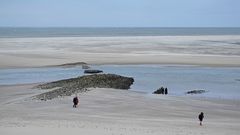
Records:
[[[240,36],[0,38],[0,68],[72,62],[240,66]]]

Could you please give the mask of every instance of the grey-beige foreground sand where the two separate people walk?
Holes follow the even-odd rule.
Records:
[[[0,134],[238,135],[240,101],[91,89],[72,97],[31,100],[34,85],[0,87]],[[197,115],[205,119],[199,126]]]

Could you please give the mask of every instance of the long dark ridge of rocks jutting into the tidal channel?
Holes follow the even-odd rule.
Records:
[[[35,96],[39,100],[51,100],[87,91],[87,88],[129,89],[134,79],[115,74],[94,74],[65,79],[36,86],[37,89],[53,89]]]

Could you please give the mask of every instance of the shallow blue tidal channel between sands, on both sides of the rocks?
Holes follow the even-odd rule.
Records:
[[[204,89],[208,92],[197,96],[240,99],[240,68],[168,65],[98,65],[92,68],[134,77],[131,90],[135,91],[152,93],[163,86],[170,95],[185,95],[189,90]],[[48,82],[81,75],[81,67],[1,69],[0,85]]]

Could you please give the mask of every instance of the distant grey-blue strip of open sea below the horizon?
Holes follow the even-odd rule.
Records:
[[[112,36],[199,36],[199,35],[240,35],[240,28],[161,28],[161,27],[0,27],[0,38],[18,37],[112,37]]]

